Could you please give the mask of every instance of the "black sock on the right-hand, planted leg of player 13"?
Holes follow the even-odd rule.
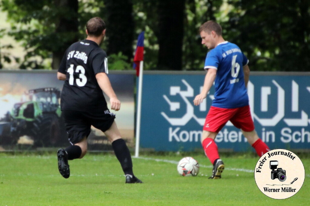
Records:
[[[125,174],[130,174],[134,177],[132,171],[132,161],[129,149],[126,145],[124,139],[117,139],[112,142],[112,148],[114,150],[115,156],[118,161],[121,163],[122,169]]]

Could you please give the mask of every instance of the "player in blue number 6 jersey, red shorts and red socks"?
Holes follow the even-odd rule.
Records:
[[[201,44],[211,50],[206,57],[204,69],[207,74],[203,89],[195,97],[194,105],[199,105],[206,98],[215,82],[214,100],[206,116],[201,144],[213,164],[210,179],[219,179],[224,170],[224,163],[219,158],[214,139],[228,121],[241,129],[260,157],[268,152],[269,148],[259,139],[250,113],[246,90],[250,75],[247,65],[249,60],[237,45],[224,40],[222,28],[216,22],[207,21],[201,25],[199,32]]]

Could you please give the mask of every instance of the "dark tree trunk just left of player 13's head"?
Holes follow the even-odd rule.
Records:
[[[58,70],[66,49],[78,41],[78,0],[55,0],[60,9],[55,35],[66,39],[57,51],[53,51],[52,69]]]

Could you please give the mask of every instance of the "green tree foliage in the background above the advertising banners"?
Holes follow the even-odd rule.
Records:
[[[4,34],[11,35],[17,41],[23,42],[27,50],[24,58],[17,59],[24,59],[20,62],[20,68],[50,68],[34,57],[55,58],[55,53],[66,49],[68,42],[73,43],[75,39],[85,38],[85,24],[88,19],[100,16],[107,23],[107,38],[101,46],[110,56],[110,69],[131,69],[136,39],[141,31],[145,31],[144,69],[160,69],[159,39],[165,38],[159,31],[159,26],[165,23],[160,18],[162,14],[160,11],[165,9],[166,4],[148,0],[78,0],[78,13],[74,14],[66,6],[57,6],[67,1],[1,0],[1,9],[8,12],[7,21],[11,23],[11,29],[1,30],[0,38]],[[169,1],[183,2],[185,8],[184,19],[179,19],[184,21],[184,34],[181,47],[182,68],[178,70],[203,68],[208,50],[201,45],[197,30],[202,23],[212,19],[222,25],[224,39],[239,45],[247,55],[252,71],[310,71],[310,1],[308,0]],[[126,6],[130,7],[126,8],[126,12],[131,11],[128,16],[132,18],[133,24],[120,21],[119,25],[117,24],[117,28],[120,29],[109,30],[109,27],[113,27],[109,24],[109,20],[112,21],[113,16],[122,13],[120,8],[123,8],[123,5],[129,5]],[[60,19],[77,20],[78,32],[56,32],[61,23]],[[173,22],[171,26],[175,26]],[[116,40],[112,38],[119,36],[120,33],[124,33],[125,37]],[[173,32],[170,35],[177,36]],[[129,39],[123,45],[126,36]],[[114,45],[118,45],[117,48]],[[9,45],[0,44],[0,67],[1,62],[10,62],[15,58],[12,54],[1,52],[4,46]],[[131,52],[127,52],[128,50],[132,51],[132,55]],[[166,67],[169,69],[169,65]]]

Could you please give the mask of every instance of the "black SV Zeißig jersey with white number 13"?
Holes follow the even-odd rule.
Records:
[[[66,74],[61,92],[61,110],[96,111],[107,109],[96,74],[108,73],[107,54],[91,40],[72,44],[58,70]]]

